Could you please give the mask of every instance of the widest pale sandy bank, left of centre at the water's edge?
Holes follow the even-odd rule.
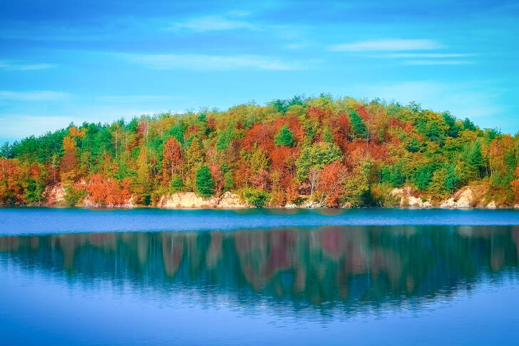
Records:
[[[158,208],[249,208],[235,193],[227,191],[220,197],[202,198],[194,192],[178,192],[163,195]]]

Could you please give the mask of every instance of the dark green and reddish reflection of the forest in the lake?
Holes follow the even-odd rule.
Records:
[[[379,226],[0,237],[0,264],[242,305],[362,310],[518,276],[519,227]],[[289,304],[287,304],[289,302]]]

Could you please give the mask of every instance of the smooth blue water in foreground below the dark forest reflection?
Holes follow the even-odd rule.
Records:
[[[196,292],[135,291],[107,280],[63,285],[63,278],[0,262],[0,337],[23,345],[326,345],[515,342],[518,279],[481,280],[471,290],[431,300],[419,309],[368,311],[327,318],[309,310],[287,314],[265,303],[251,312],[225,297]]]

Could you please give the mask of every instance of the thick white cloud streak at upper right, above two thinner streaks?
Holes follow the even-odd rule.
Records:
[[[428,39],[387,39],[360,41],[329,46],[329,51],[418,51],[440,49],[444,46]]]

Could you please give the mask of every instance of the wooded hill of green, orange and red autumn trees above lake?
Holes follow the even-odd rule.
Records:
[[[519,208],[518,163],[518,134],[448,111],[294,96],[5,143],[0,205]]]

